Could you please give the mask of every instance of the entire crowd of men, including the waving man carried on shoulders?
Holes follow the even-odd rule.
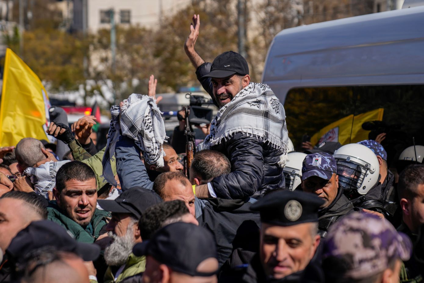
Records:
[[[153,76],[111,108],[100,151],[93,116],[50,123],[64,157],[32,137],[0,149],[0,282],[421,282],[423,154],[393,174],[381,140],[295,152],[273,91],[238,53],[204,62],[192,20],[184,48],[219,112],[190,168]]]

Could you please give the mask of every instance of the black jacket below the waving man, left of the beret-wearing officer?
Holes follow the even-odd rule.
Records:
[[[234,249],[239,249],[242,257],[257,252],[261,222],[259,213],[250,210],[252,204],[241,199],[206,200],[198,221],[215,236],[219,265],[229,259]],[[247,257],[247,262],[250,262],[251,258]],[[231,262],[226,264],[234,266]]]

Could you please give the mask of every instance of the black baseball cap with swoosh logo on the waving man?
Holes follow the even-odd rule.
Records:
[[[202,78],[226,78],[234,74],[248,75],[249,66],[239,53],[226,51],[213,60],[211,71]]]

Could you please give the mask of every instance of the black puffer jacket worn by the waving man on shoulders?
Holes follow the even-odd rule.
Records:
[[[201,78],[210,71],[211,63],[196,70],[198,80],[214,98],[210,78]],[[278,165],[281,151],[273,149],[256,137],[235,133],[211,149],[225,154],[231,162],[231,173],[212,180],[217,197],[223,199],[260,198],[266,191],[285,187],[283,169]]]

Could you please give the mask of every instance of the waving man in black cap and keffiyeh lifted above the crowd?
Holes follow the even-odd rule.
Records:
[[[265,191],[284,188],[288,132],[284,107],[266,84],[250,81],[249,67],[239,53],[226,51],[205,63],[194,46],[199,15],[194,15],[184,49],[204,89],[220,108],[203,149],[225,154],[232,172],[196,186],[198,198],[260,198]]]

